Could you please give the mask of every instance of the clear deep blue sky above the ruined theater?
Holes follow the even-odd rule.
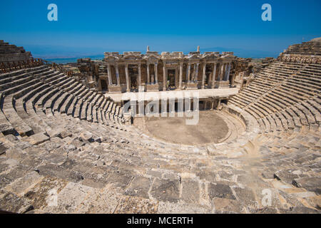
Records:
[[[47,6],[58,6],[58,21]],[[272,6],[262,21],[261,6]],[[0,39],[38,56],[227,48],[278,54],[321,36],[320,0],[1,1]],[[215,51],[215,50],[213,50]]]

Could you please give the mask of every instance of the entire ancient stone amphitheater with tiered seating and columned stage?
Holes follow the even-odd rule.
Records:
[[[175,118],[128,119],[115,93],[130,93],[121,87],[128,69],[113,86],[107,67],[116,90],[104,93],[101,82],[0,41],[1,212],[320,213],[320,41],[290,46],[243,88],[229,86],[236,58],[215,53],[229,64],[218,69],[225,79],[216,86],[206,63],[200,85],[194,77],[191,89],[209,95],[191,129]],[[169,86],[183,89],[190,66],[178,66]],[[163,93],[149,69],[147,91]]]

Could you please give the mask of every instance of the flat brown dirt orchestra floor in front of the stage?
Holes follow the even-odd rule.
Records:
[[[177,113],[176,113],[177,114]],[[197,125],[186,125],[185,117],[147,118],[145,129],[149,135],[167,142],[198,145],[215,142],[228,134],[228,125],[215,111],[200,111]]]

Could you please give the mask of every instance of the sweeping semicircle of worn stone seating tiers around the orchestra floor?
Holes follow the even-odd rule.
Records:
[[[300,67],[298,64],[297,68]],[[228,211],[252,212],[259,208],[262,190],[271,188],[271,180],[266,180],[271,178],[287,187],[280,191],[273,188],[276,200],[282,196],[290,207],[309,208],[312,212],[318,208],[315,202],[298,203],[303,200],[301,196],[315,197],[320,192],[320,183],[309,179],[318,177],[320,172],[320,126],[316,121],[320,115],[320,97],[311,94],[302,100],[303,86],[297,92],[291,86],[281,90],[280,85],[274,84],[266,89],[260,86],[260,81],[265,84],[267,81],[263,77],[255,78],[255,86],[246,90],[250,95],[241,92],[227,106],[243,120],[245,133],[209,149],[173,145],[127,128],[123,126],[121,107],[113,100],[47,70],[32,73],[30,81],[24,77],[16,79],[18,87],[6,88],[4,96],[0,96],[1,113],[2,110],[9,113],[14,125],[22,120],[21,123],[34,130],[33,135],[19,135],[10,130],[4,131],[6,135],[0,134],[0,151],[5,151],[6,156],[0,157],[0,178],[5,180],[0,183],[0,209],[26,212],[31,205],[46,211],[49,207],[35,195],[45,199],[46,190],[50,190],[47,186],[55,183],[55,187],[61,185],[59,196],[75,195],[72,191],[76,189],[86,192],[77,194],[77,200],[68,207],[61,205],[58,212],[66,212],[66,208],[74,212],[83,208],[78,206],[86,204],[86,200],[90,204],[97,202],[98,197],[91,198],[93,192],[112,192],[105,191],[106,186],[116,187],[119,194],[113,211],[122,204],[121,200],[141,197],[146,202],[156,200],[156,208],[184,202],[185,207],[215,208],[215,212],[225,211],[230,204],[233,208]],[[281,71],[280,67],[271,76],[274,82],[279,76],[277,71]],[[259,88],[257,93],[256,88]],[[246,108],[243,97],[248,102]],[[10,115],[11,111],[16,114]],[[10,126],[11,121],[2,114],[0,124]],[[39,128],[31,125],[31,120]],[[258,172],[250,175],[249,160],[228,156],[246,155],[255,148],[254,139],[260,141],[262,156],[251,159],[251,168]],[[225,152],[224,156],[221,152]],[[39,192],[39,189],[46,190]],[[299,193],[287,192],[289,189]],[[273,209],[281,212],[277,204],[273,204]]]

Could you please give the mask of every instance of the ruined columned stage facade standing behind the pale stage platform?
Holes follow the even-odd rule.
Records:
[[[79,77],[89,88],[96,87],[98,91],[108,93],[138,92],[140,88],[146,91],[214,88],[215,81],[220,81],[218,87],[229,88],[238,63],[233,52],[104,54],[103,61],[78,59],[78,69],[81,71]]]

